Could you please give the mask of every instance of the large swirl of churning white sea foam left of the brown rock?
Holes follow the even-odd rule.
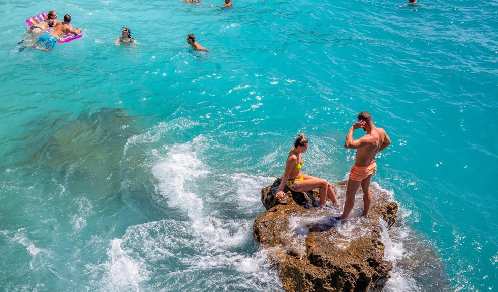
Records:
[[[153,290],[161,290],[161,285],[167,283],[186,290],[189,284],[182,277],[198,281],[195,286],[207,277],[220,287],[280,289],[276,274],[269,271],[264,251],[245,252],[247,244],[254,244],[253,219],[239,219],[230,210],[223,210],[226,204],[247,212],[260,210],[261,188],[273,178],[212,173],[210,166],[199,158],[204,157],[206,143],[199,136],[188,143],[173,144],[165,153],[152,153],[158,160],[152,167],[159,194],[154,199],[185,216],[131,226],[121,239],[114,239],[109,261],[104,264],[108,272],[100,281],[101,288],[143,289],[144,279],[161,275],[164,283],[158,283]]]

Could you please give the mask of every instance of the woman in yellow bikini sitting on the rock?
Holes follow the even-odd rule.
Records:
[[[305,153],[306,150],[308,150],[308,139],[303,134],[299,134],[294,141],[294,147],[287,156],[284,176],[282,176],[282,182],[278,186],[278,192],[276,193],[277,198],[281,200],[285,196],[284,187],[287,185],[289,189],[295,192],[319,189],[320,205],[325,205],[326,196],[330,198],[334,206],[339,205],[334,189],[327,180],[307,176],[301,172],[301,166],[304,163],[301,154]]]

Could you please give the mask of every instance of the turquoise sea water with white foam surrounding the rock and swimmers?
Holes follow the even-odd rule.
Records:
[[[300,132],[305,173],[347,178],[363,110],[401,208],[385,290],[498,289],[496,2],[208,3],[0,2],[3,290],[281,291],[260,190]],[[19,52],[49,10],[84,36]]]

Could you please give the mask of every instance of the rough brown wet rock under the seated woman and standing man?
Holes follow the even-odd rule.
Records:
[[[253,238],[268,249],[286,291],[380,291],[392,264],[384,260],[383,229],[396,220],[397,205],[386,191],[371,186],[370,218],[353,211],[337,221],[342,207],[317,208],[318,193],[275,196],[280,179],[261,191],[267,211],[258,215]],[[333,185],[344,203],[347,182]],[[363,206],[361,189],[356,207]],[[330,202],[329,202],[330,203]],[[386,223],[383,223],[382,221]],[[385,232],[384,232],[385,233]]]

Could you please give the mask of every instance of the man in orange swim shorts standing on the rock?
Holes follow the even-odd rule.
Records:
[[[357,140],[353,140],[353,132],[359,128],[363,128],[366,134]],[[353,210],[353,207],[355,206],[355,195],[360,185],[363,189],[364,206],[364,208],[360,208],[360,212],[363,216],[368,217],[368,211],[370,210],[370,203],[372,201],[370,182],[372,180],[372,175],[377,170],[375,155],[386,149],[390,143],[391,140],[386,134],[386,131],[377,128],[374,125],[372,116],[368,112],[363,111],[358,114],[358,122],[354,123],[351,128],[349,128],[348,135],[346,135],[346,142],[344,143],[344,147],[346,148],[357,149],[355,164],[351,168],[351,173],[349,175],[343,214],[340,215],[340,217],[335,217],[335,219],[348,219],[349,213],[351,213],[351,210]]]

